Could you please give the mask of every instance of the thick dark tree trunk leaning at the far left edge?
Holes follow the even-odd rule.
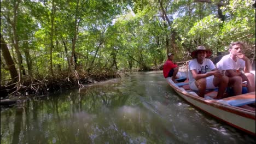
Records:
[[[4,57],[4,61],[7,64],[8,69],[10,71],[11,79],[13,81],[17,81],[18,73],[17,73],[17,70],[15,68],[13,58],[11,58],[10,52],[8,50],[7,44],[5,43],[2,34],[1,34],[1,52],[2,52],[2,55]]]

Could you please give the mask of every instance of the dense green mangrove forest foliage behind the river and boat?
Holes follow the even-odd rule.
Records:
[[[217,56],[238,40],[253,57],[255,0],[3,0],[1,86],[25,76],[148,69],[168,52],[187,61],[197,45]]]

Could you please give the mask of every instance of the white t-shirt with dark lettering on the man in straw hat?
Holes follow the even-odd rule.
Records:
[[[208,58],[203,59],[202,64],[198,63],[196,58],[194,58],[189,62],[189,73],[188,73],[189,83],[192,83],[195,81],[191,73],[191,70],[193,69],[197,71],[197,74],[205,74],[213,69],[216,69],[216,67],[213,64],[213,62]]]

